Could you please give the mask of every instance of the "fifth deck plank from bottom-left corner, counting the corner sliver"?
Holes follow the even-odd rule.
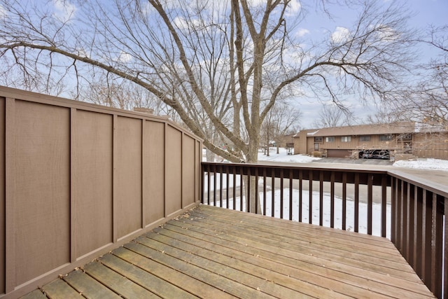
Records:
[[[102,256],[102,258],[99,258],[99,262],[162,298],[197,298],[196,296],[183,291],[181,288],[178,288],[145,270],[141,270],[139,267],[132,265],[117,256],[113,256],[112,254]]]

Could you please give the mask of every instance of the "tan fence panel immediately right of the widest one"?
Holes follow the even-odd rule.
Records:
[[[113,117],[76,111],[73,127],[72,246],[78,258],[113,242]]]

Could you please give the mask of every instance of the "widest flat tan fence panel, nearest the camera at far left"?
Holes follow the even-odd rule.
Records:
[[[15,101],[16,284],[70,263],[70,109]],[[45,221],[41,221],[45,219]],[[45,234],[42,234],[45,232]]]

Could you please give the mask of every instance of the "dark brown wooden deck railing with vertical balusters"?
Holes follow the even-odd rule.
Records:
[[[437,298],[448,298],[447,200],[400,172],[202,162],[203,204],[388,237]]]

